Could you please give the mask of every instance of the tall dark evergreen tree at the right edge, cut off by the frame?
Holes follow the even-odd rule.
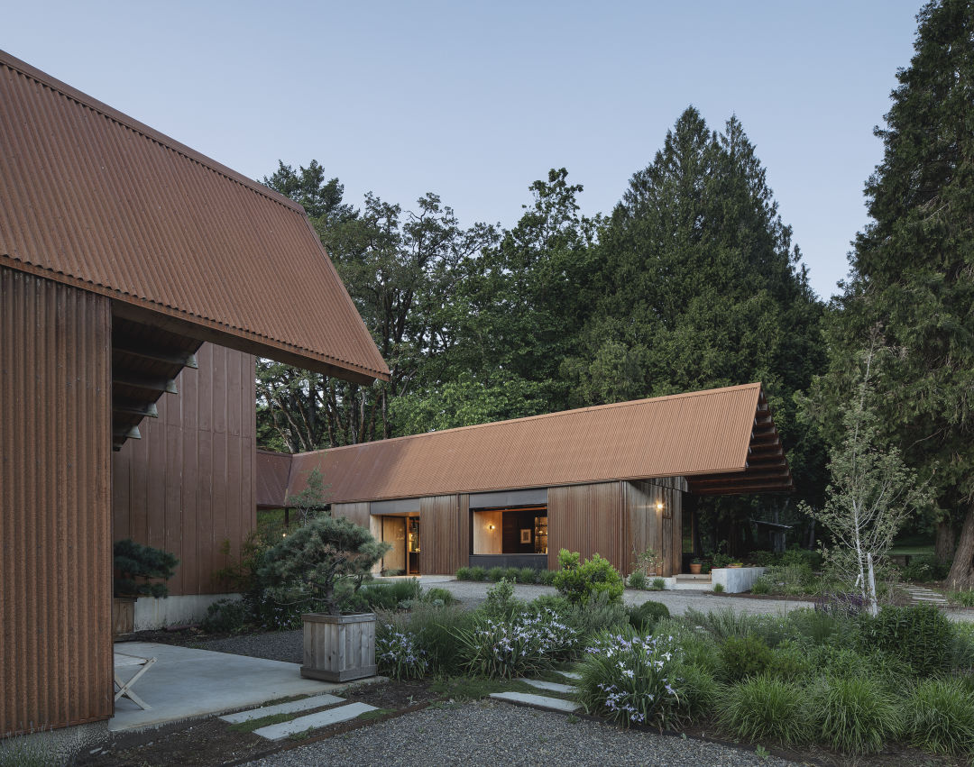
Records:
[[[930,479],[949,581],[974,587],[974,2],[918,14],[915,54],[897,74],[883,158],[866,184],[871,222],[830,323],[823,419],[849,388],[849,360],[880,333],[894,350],[878,386],[882,427]],[[834,410],[833,410],[834,413]],[[833,416],[832,420],[836,420]]]

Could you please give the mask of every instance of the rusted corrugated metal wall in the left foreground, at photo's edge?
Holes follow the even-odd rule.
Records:
[[[112,714],[108,299],[0,268],[0,734]]]

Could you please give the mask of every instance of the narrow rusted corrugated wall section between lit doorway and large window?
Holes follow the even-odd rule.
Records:
[[[420,499],[420,572],[452,575],[467,566],[470,553],[469,495]]]

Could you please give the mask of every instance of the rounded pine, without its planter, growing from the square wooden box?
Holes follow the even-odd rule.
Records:
[[[289,603],[323,603],[339,615],[335,586],[365,575],[392,548],[344,517],[317,517],[265,555],[261,577]]]

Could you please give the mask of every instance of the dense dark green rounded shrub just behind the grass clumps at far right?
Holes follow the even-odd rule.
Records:
[[[864,614],[859,638],[864,649],[896,655],[919,676],[932,676],[948,668],[954,649],[951,622],[932,604],[887,605],[875,618]]]

